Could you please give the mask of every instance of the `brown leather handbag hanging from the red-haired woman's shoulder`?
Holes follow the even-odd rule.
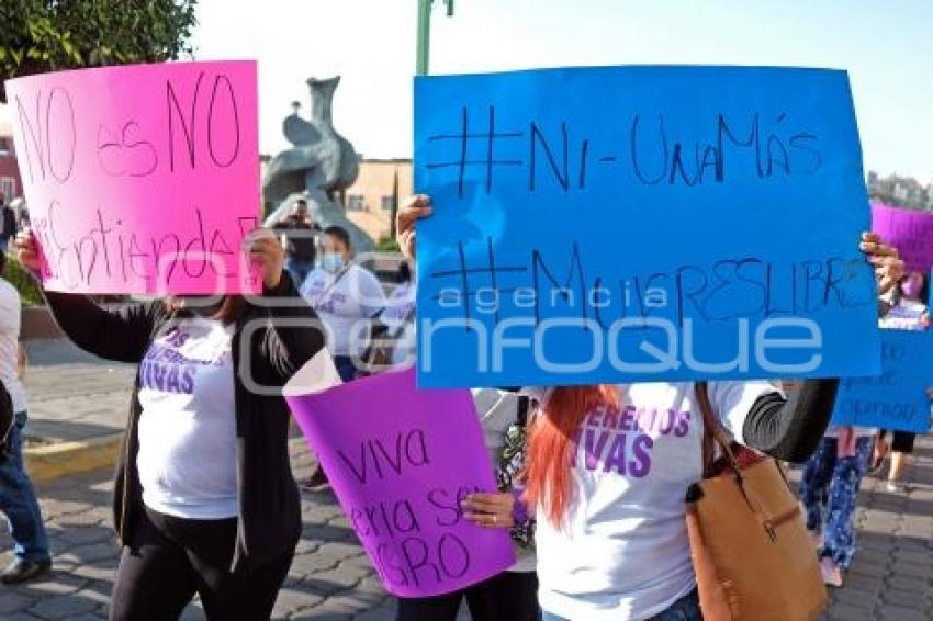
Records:
[[[687,532],[704,619],[816,619],[827,590],[784,472],[772,458],[728,439],[706,383],[696,384],[696,396],[704,478],[687,490]]]

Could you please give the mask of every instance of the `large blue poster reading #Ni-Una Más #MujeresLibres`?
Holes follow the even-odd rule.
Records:
[[[844,71],[417,78],[415,188],[420,386],[879,372]]]

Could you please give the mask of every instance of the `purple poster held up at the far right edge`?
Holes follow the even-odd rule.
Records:
[[[873,203],[872,230],[898,249],[908,270],[933,268],[933,214]]]

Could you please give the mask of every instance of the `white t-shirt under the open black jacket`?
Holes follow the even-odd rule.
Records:
[[[139,365],[143,501],[160,513],[238,513],[232,326],[193,317],[149,346]]]

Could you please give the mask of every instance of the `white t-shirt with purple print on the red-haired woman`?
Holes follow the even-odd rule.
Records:
[[[580,429],[566,523],[538,511],[539,599],[574,621],[650,619],[696,586],[684,519],[687,487],[702,470],[694,384],[618,392],[618,410],[597,408]],[[772,392],[767,382],[709,383],[715,411],[740,442],[755,399]]]

